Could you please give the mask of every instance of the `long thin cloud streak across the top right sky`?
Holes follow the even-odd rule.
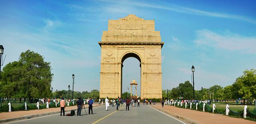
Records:
[[[144,3],[144,2],[136,2],[136,1],[108,1],[108,0],[100,0],[103,2],[112,2],[112,3],[118,3],[118,4],[124,4],[124,5],[133,5],[138,7],[147,7],[147,8],[155,8],[155,9],[162,9],[162,10],[170,10],[174,12],[180,12],[180,13],[186,13],[186,14],[196,14],[201,16],[211,16],[211,17],[218,17],[218,18],[232,18],[232,19],[238,19],[238,20],[244,20],[246,22],[250,22],[253,24],[256,24],[256,20],[252,18],[248,18],[246,16],[240,16],[236,14],[226,14],[226,13],[217,13],[217,12],[209,12],[204,10],[198,10],[194,8],[187,8],[184,6],[178,6],[174,4],[169,3],[162,3],[162,4],[150,4],[150,3]]]

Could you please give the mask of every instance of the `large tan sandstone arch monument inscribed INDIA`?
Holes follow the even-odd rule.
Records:
[[[140,61],[141,98],[162,98],[162,60],[159,31],[154,20],[129,14],[119,20],[108,20],[103,31],[100,63],[100,98],[117,98],[122,94],[122,67],[126,58]]]

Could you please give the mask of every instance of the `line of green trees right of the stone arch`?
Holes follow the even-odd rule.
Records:
[[[168,91],[162,90],[162,96],[172,99],[183,97],[184,99],[193,99],[193,86],[189,81],[180,83],[177,87]],[[202,90],[195,90],[195,99],[198,100],[253,100],[256,98],[256,70],[245,70],[243,75],[236,78],[236,81],[229,86],[222,87],[214,85]]]

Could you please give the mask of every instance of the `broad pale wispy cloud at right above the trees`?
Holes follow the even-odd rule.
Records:
[[[216,33],[210,30],[197,30],[194,42],[198,45],[256,54],[255,36],[242,36],[227,31]]]

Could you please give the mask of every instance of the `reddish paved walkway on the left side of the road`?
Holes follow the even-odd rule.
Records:
[[[98,104],[94,104],[94,106],[99,106]],[[88,107],[85,105],[84,107]],[[69,106],[65,108],[66,110],[77,109],[77,106]],[[22,116],[35,115],[35,114],[44,114],[50,112],[60,112],[60,108],[48,108],[42,110],[28,110],[28,111],[14,111],[14,112],[2,112],[0,113],[0,120],[5,120],[9,118],[19,118]]]

